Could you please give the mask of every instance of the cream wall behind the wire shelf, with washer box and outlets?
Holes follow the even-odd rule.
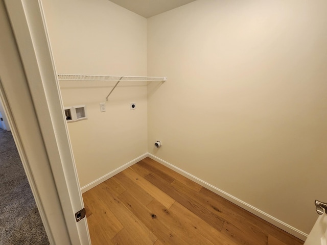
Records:
[[[107,0],[42,1],[58,74],[147,75],[147,20]],[[147,84],[61,81],[64,106],[86,105],[68,124],[81,186],[147,152]],[[137,109],[130,110],[129,103]]]

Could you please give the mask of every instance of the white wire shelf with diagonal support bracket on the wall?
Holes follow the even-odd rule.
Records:
[[[109,95],[116,88],[120,81],[167,81],[166,77],[130,77],[130,76],[101,76],[101,75],[77,75],[77,74],[58,74],[58,80],[60,81],[117,81],[113,86],[106,101],[108,101]]]

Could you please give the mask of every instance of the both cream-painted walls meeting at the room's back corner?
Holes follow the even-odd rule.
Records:
[[[64,106],[87,108],[68,124],[81,186],[148,151],[310,231],[327,200],[325,1],[198,0],[148,20],[42,3],[58,74],[168,77],[122,82],[103,113],[114,82],[60,83]]]

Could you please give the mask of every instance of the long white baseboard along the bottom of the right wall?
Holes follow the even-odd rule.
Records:
[[[242,200],[236,198],[236,197],[233,197],[232,195],[228,194],[227,192],[223,191],[223,190],[220,190],[218,189],[217,187],[209,184],[209,183],[206,183],[205,181],[187,173],[186,171],[170,164],[169,162],[166,162],[165,160],[162,160],[150,153],[148,153],[148,157],[150,157],[151,159],[161,163],[162,165],[165,165],[167,167],[169,167],[170,169],[176,171],[177,173],[181,174],[182,176],[198,183],[199,185],[215,192],[216,194],[220,195],[220,197],[223,197],[225,199],[227,199],[228,201],[232,202],[233,204],[236,204],[238,205],[239,207],[241,208],[244,208],[245,210],[253,213],[254,215],[266,220],[267,222],[269,222],[270,224],[278,227],[278,228],[281,228],[282,230],[292,234],[293,236],[296,236],[297,238],[305,241],[308,237],[308,234],[284,223],[282,220],[279,220],[271,215],[269,215],[268,213],[265,213],[263,212],[262,210],[258,209],[258,208],[255,208],[245,202],[243,202]]]

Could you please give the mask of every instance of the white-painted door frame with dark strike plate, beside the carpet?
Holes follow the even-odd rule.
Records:
[[[0,96],[45,231],[90,244],[41,1],[0,1]]]

